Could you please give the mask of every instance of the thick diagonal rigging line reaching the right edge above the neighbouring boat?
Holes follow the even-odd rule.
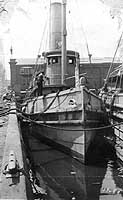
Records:
[[[117,54],[118,48],[119,48],[119,46],[120,46],[120,42],[121,42],[122,36],[123,36],[123,31],[122,31],[122,33],[121,33],[121,35],[120,35],[120,38],[119,38],[119,41],[118,41],[116,50],[115,50],[115,52],[114,52],[114,56],[113,56],[111,65],[110,65],[110,67],[109,67],[109,70],[108,70],[108,73],[107,73],[107,76],[106,76],[106,79],[105,79],[104,86],[103,86],[104,88],[106,87],[106,85],[107,85],[107,83],[108,83],[109,76],[110,76],[111,70],[112,70],[112,68],[113,68],[114,59],[115,59],[115,56],[116,56],[116,54]]]

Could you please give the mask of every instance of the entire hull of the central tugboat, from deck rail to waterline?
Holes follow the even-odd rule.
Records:
[[[57,145],[85,163],[96,128],[104,125],[106,115],[96,95],[84,88],[68,91],[27,102],[26,113],[34,122],[31,133],[35,137]]]

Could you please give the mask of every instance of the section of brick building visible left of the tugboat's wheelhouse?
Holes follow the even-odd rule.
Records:
[[[36,59],[22,58],[10,59],[10,86],[17,95],[25,92],[29,87],[32,76],[37,71],[44,71],[45,64],[42,59],[39,59],[36,64]]]

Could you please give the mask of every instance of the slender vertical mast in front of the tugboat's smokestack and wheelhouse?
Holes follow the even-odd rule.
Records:
[[[62,67],[61,67],[61,84],[65,85],[65,74],[66,74],[66,64],[67,64],[67,56],[66,56],[66,4],[67,0],[62,0]]]

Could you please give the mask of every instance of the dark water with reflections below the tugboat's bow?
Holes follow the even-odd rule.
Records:
[[[92,162],[87,166],[33,137],[29,140],[29,150],[33,168],[47,191],[47,199],[123,199],[122,167],[108,144],[92,146]]]

